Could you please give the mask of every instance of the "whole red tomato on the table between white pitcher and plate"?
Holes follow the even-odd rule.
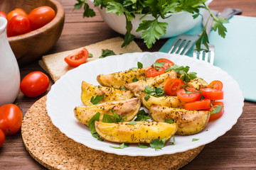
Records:
[[[43,72],[31,72],[21,81],[21,91],[25,96],[36,97],[43,94],[49,86],[49,78]]]

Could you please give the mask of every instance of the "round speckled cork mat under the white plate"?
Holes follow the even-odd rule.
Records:
[[[204,147],[158,157],[129,157],[90,149],[53,125],[46,111],[46,96],[24,116],[21,134],[29,154],[48,169],[180,169]]]

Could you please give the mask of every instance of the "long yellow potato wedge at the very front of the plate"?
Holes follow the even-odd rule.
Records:
[[[176,123],[138,121],[136,125],[95,122],[97,133],[107,141],[117,143],[150,143],[151,140],[168,141],[177,130]]]

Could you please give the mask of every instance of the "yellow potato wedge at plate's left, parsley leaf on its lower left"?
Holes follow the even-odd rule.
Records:
[[[107,101],[123,101],[134,96],[132,91],[123,91],[105,86],[95,86],[92,84],[88,84],[85,81],[82,81],[81,100],[82,103],[85,104],[85,106],[93,105],[90,102],[92,96],[96,97],[97,95],[102,94],[104,94],[105,96],[102,98],[100,103],[105,103]]]

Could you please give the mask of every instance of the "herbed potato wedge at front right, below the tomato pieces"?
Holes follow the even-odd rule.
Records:
[[[154,104],[149,109],[149,115],[159,122],[174,120],[178,125],[177,135],[192,135],[201,132],[210,118],[208,111],[188,111]]]

